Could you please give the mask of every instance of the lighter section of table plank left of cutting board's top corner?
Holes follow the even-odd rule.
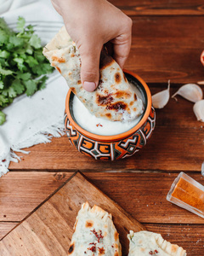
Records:
[[[21,221],[73,173],[8,172],[0,178],[0,221]]]

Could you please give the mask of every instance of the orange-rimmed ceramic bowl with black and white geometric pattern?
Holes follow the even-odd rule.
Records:
[[[135,84],[144,96],[144,113],[139,123],[128,131],[101,136],[83,129],[73,116],[74,94],[68,91],[65,101],[65,131],[71,144],[82,154],[95,160],[119,160],[143,148],[155,128],[156,113],[151,104],[150,89],[135,73],[124,70],[127,80]]]

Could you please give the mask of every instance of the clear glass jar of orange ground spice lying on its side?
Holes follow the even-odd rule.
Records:
[[[204,186],[180,172],[167,194],[167,201],[204,218]]]

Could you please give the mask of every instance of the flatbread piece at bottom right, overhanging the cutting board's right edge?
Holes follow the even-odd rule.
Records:
[[[160,234],[130,231],[127,238],[130,241],[128,256],[186,256],[186,251],[182,247],[164,240]]]

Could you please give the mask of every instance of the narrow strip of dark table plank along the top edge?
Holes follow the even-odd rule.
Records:
[[[126,15],[204,15],[203,1],[201,0],[111,0]]]

